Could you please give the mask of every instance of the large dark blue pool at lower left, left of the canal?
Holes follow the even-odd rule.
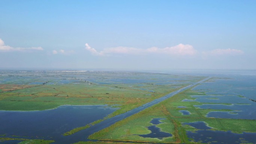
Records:
[[[58,142],[64,138],[61,134],[103,119],[115,110],[107,105],[63,105],[44,111],[0,111],[0,132],[6,136],[18,135],[22,138],[52,139]],[[79,137],[74,135],[68,138],[76,141]],[[16,141],[4,143],[15,144]]]

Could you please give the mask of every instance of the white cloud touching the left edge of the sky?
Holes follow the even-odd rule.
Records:
[[[27,51],[27,50],[43,50],[42,47],[31,47],[31,48],[13,48],[11,46],[4,45],[4,41],[0,39],[0,52],[7,51]]]

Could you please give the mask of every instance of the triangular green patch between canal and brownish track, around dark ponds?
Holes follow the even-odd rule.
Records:
[[[168,119],[165,113],[162,113],[161,107],[147,108],[147,110],[141,111],[140,113],[134,114],[125,120],[115,123],[107,129],[103,129],[91,135],[89,138],[100,140],[118,140],[118,141],[134,141],[134,142],[155,142],[158,143],[157,138],[143,138],[138,135],[149,134],[150,131],[146,128],[152,125],[150,121],[154,118],[164,118],[157,127],[161,128],[161,131],[173,133],[174,124]],[[110,133],[111,132],[111,133]],[[161,140],[162,143],[172,143],[175,140],[173,137],[167,137]]]

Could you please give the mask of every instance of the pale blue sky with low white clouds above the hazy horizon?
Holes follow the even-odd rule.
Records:
[[[1,0],[0,68],[256,69],[256,0]]]

